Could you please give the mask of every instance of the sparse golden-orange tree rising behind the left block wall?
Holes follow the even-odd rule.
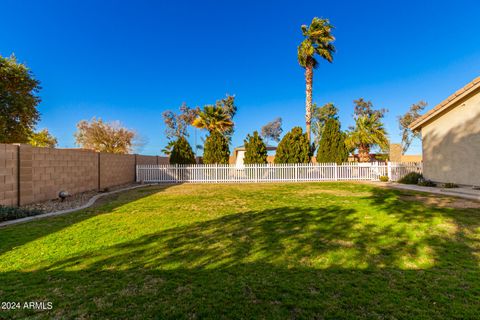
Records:
[[[77,124],[74,134],[77,145],[97,152],[126,154],[137,145],[136,132],[123,127],[120,122],[103,122],[92,118],[90,122],[82,120]]]

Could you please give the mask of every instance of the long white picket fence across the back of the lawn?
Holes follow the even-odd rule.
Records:
[[[397,181],[409,172],[422,172],[415,162],[349,162],[307,164],[137,165],[137,182],[238,183],[300,181],[377,181],[388,176]]]

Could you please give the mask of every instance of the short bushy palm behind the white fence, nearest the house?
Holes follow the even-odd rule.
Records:
[[[374,146],[386,150],[388,148],[387,132],[379,115],[365,115],[355,119],[355,127],[348,132],[345,144],[349,149],[358,149],[360,162],[370,161],[370,149]]]

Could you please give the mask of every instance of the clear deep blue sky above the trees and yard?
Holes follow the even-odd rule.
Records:
[[[284,131],[304,126],[296,50],[314,16],[335,25],[337,54],[316,70],[313,99],[335,103],[343,128],[364,97],[389,109],[386,128],[399,142],[397,116],[412,103],[431,108],[480,75],[478,1],[4,0],[1,8],[0,54],[14,52],[42,82],[38,128],[60,147],[75,147],[76,123],[96,116],[135,129],[148,141],[142,153],[159,154],[164,110],[226,93],[239,108],[233,146],[279,116]],[[415,142],[409,153],[419,152]]]

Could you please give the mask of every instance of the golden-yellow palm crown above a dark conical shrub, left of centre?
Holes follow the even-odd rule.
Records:
[[[233,121],[222,107],[207,105],[198,113],[197,118],[193,120],[192,126],[206,129],[210,133],[218,131],[223,134],[233,127]]]

